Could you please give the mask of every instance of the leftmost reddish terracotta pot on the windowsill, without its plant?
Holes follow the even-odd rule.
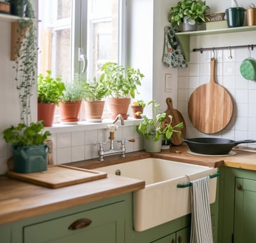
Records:
[[[37,120],[43,120],[44,127],[51,127],[53,125],[55,107],[54,103],[38,103]]]

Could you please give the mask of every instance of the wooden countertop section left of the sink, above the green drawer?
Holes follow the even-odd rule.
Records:
[[[144,181],[111,174],[106,179],[58,189],[0,176],[0,224],[129,193],[144,186]]]

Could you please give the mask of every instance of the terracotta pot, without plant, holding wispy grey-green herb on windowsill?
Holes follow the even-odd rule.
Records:
[[[63,123],[77,123],[79,121],[81,102],[81,100],[60,102],[60,121]]]

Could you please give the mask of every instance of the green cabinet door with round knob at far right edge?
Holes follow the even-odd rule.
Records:
[[[236,178],[234,243],[256,242],[256,181]]]

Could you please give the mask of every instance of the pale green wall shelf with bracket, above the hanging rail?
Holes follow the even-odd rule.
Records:
[[[229,33],[238,33],[238,32],[252,32],[256,30],[256,26],[244,26],[236,28],[226,28],[226,29],[210,29],[210,30],[201,30],[198,32],[180,32],[176,33],[180,43],[182,45],[184,56],[189,62],[189,48],[190,48],[190,36],[206,36],[212,34],[229,34]]]

